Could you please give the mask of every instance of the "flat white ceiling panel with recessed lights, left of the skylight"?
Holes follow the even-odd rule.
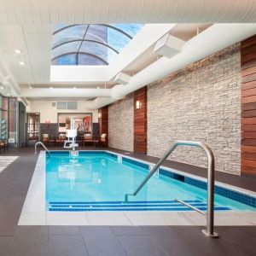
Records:
[[[49,25],[0,26],[0,53],[19,84],[49,84],[50,49]]]

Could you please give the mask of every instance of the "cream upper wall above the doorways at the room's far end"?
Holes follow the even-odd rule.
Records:
[[[78,102],[78,109],[75,110],[57,109],[56,106],[52,107],[52,102],[55,101],[30,101],[27,112],[40,113],[40,123],[45,123],[45,121],[57,123],[58,113],[92,113],[92,122],[98,122],[98,110],[84,108],[84,102],[82,101]]]

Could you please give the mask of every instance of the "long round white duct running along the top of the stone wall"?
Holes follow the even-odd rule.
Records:
[[[218,52],[232,44],[253,36],[256,33],[256,24],[214,24],[201,32],[195,38],[191,38],[183,45],[181,53],[171,59],[162,57],[141,72],[134,75],[129,84],[115,85],[112,88],[110,98],[96,98],[86,102],[85,108],[102,108],[109,103],[115,102],[114,96],[126,96],[134,90],[138,90],[158,79],[165,78],[168,74],[186,67],[187,65],[200,61],[209,55]]]

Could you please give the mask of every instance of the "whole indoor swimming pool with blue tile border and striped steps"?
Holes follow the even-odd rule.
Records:
[[[166,167],[125,202],[125,194],[148,175],[152,165],[108,151],[50,151],[44,156],[45,201],[50,212],[191,211],[176,199],[207,210],[207,183]],[[215,210],[256,211],[255,197],[215,186]]]

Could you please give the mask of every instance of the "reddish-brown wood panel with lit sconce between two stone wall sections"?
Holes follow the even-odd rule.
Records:
[[[133,101],[133,150],[137,153],[147,154],[147,86],[134,92]],[[137,101],[140,102],[139,108],[137,108]]]

